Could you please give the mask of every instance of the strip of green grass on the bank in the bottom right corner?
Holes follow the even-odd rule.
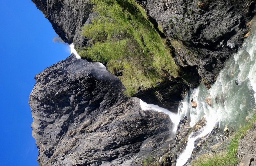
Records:
[[[247,130],[252,128],[253,122],[256,121],[256,112],[254,116],[248,120],[244,127],[239,128],[231,136],[230,144],[225,148],[225,150],[214,153],[213,155],[203,154],[196,160],[192,161],[192,166],[232,166],[237,165],[238,158],[236,156],[238,149],[238,141],[242,139]]]

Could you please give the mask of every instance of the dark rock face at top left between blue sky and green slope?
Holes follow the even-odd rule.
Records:
[[[32,0],[52,24],[56,34],[76,49],[87,45],[87,39],[80,35],[81,27],[90,23],[93,14],[88,0]]]

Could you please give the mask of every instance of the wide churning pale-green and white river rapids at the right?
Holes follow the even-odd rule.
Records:
[[[197,88],[191,88],[178,108],[180,118],[187,116],[190,126],[196,121],[206,118],[206,126],[200,130],[197,136],[191,133],[188,144],[177,159],[177,166],[183,166],[191,156],[194,149],[194,141],[207,135],[215,126],[224,129],[225,126],[239,128],[250,117],[256,103],[256,25],[253,23],[251,36],[243,47],[225,62],[225,67],[211,89],[208,90],[203,83]],[[236,85],[237,83],[237,85]],[[205,99],[210,96],[211,106]],[[197,107],[191,107],[191,100],[197,102]]]

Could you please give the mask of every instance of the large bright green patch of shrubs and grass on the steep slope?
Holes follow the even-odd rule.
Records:
[[[93,61],[108,62],[109,72],[121,71],[128,96],[138,89],[156,86],[167,77],[178,76],[178,67],[168,43],[147,20],[145,11],[134,0],[90,0],[98,13],[81,34],[91,39],[91,47],[79,55]],[[158,29],[162,32],[161,25]]]

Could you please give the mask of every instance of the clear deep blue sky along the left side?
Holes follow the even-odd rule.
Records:
[[[70,55],[31,0],[0,0],[0,165],[38,166],[28,97],[34,76]]]

